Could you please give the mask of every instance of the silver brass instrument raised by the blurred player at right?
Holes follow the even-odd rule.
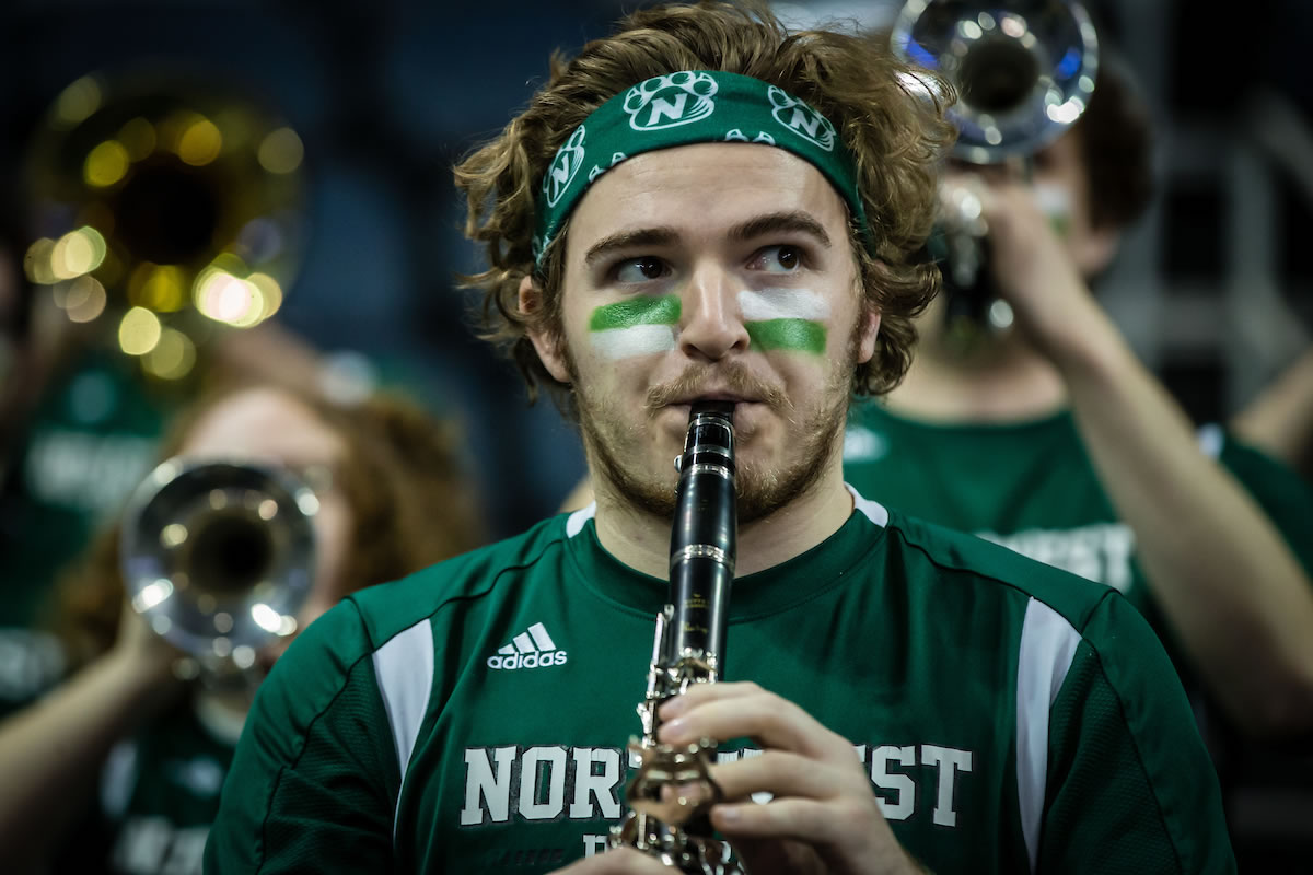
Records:
[[[890,46],[957,89],[953,157],[1015,164],[1025,177],[1029,159],[1086,110],[1099,68],[1098,35],[1075,0],[909,0]],[[1012,321],[993,290],[981,206],[970,190],[944,186],[930,247],[944,270],[948,338],[960,348]]]

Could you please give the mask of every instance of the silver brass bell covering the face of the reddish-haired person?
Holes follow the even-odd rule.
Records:
[[[240,678],[264,644],[297,631],[314,585],[319,510],[289,470],[242,462],[163,462],[123,514],[127,597],[209,682]]]

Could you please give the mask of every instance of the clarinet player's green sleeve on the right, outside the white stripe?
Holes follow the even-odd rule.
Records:
[[[1049,714],[1039,872],[1234,872],[1221,792],[1153,631],[1115,593]]]

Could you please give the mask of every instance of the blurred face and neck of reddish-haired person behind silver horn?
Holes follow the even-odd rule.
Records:
[[[319,510],[312,517],[315,579],[297,614],[298,630],[336,605],[349,589],[347,551],[355,519],[345,495],[332,485],[331,476],[345,454],[341,437],[314,411],[274,388],[240,391],[215,404],[188,430],[179,453],[196,462],[242,460],[330,474],[315,483],[319,499]],[[291,638],[280,639],[260,652],[259,664],[265,672]]]

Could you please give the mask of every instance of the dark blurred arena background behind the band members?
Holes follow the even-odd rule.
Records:
[[[779,4],[888,22],[899,4]],[[1158,123],[1154,206],[1103,285],[1113,316],[1197,421],[1237,411],[1313,325],[1313,9],[1260,0],[1241,20],[1184,0],[1087,4]],[[303,144],[299,266],[278,319],[369,358],[469,432],[488,523],[517,531],[583,471],[550,404],[471,337],[453,275],[477,265],[449,168],[521,106],[554,47],[605,31],[607,0],[519,7],[385,0],[11,0],[0,10],[0,167],[32,178],[42,117],[71,83],[189,71],[252,94]],[[35,228],[41,232],[41,228]],[[347,359],[348,365],[352,359]]]

